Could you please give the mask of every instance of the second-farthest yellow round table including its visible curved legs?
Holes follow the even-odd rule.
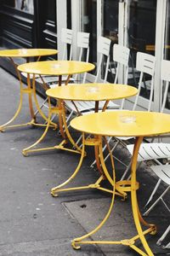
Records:
[[[40,76],[42,75],[54,75],[59,77],[59,87],[61,85],[62,76],[67,75],[67,79],[65,81],[65,85],[68,84],[71,75],[76,73],[86,73],[94,69],[94,64],[83,62],[83,61],[38,61],[38,62],[30,62],[26,64],[22,64],[18,67],[20,72],[24,73],[31,73],[31,74],[38,74]],[[35,78],[33,79],[33,81]],[[64,86],[67,87],[67,86]],[[33,89],[35,88],[35,83],[33,83]],[[35,90],[35,89],[34,89]],[[36,143],[33,143],[30,147],[23,149],[23,154],[26,155],[28,152],[37,152],[37,151],[44,151],[44,150],[51,150],[54,149],[54,147],[48,147],[48,148],[35,148],[34,147],[42,141],[42,139],[46,136],[48,132],[48,128],[51,123],[51,115],[53,113],[59,114],[59,130],[65,139],[65,131],[62,125],[62,119],[61,119],[61,112],[62,112],[62,102],[58,101],[57,106],[52,108],[50,104],[50,100],[48,99],[48,105],[49,105],[49,111],[48,111],[48,123],[45,131],[43,132],[42,136],[37,140]],[[65,144],[66,140],[64,140]],[[61,149],[63,148],[63,143],[61,145]],[[33,148],[33,149],[31,149]],[[56,147],[55,147],[56,148]],[[58,147],[57,147],[58,148]],[[74,150],[70,150],[74,151]],[[80,153],[80,151],[79,151]]]

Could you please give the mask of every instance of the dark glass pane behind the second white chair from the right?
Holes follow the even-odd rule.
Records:
[[[128,46],[131,49],[128,84],[138,87],[139,73],[135,70],[138,51],[155,55],[156,0],[131,1]],[[150,97],[150,76],[144,76],[140,96]]]

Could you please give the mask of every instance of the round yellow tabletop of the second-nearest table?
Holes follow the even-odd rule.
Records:
[[[74,84],[46,91],[48,96],[72,101],[109,101],[136,95],[138,90],[124,84]]]

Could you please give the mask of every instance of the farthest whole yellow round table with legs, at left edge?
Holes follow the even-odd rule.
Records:
[[[37,122],[36,122],[36,116],[34,114],[34,110],[33,110],[33,106],[32,106],[32,96],[34,96],[36,106],[37,106],[37,110],[42,115],[42,118],[45,119],[45,120],[47,120],[47,118],[42,113],[42,111],[39,108],[39,105],[37,103],[36,90],[33,90],[31,88],[30,74],[27,75],[27,88],[24,88],[24,86],[22,84],[20,72],[17,69],[18,65],[14,62],[14,58],[26,58],[26,62],[29,62],[31,57],[37,57],[37,61],[39,61],[41,56],[56,55],[57,53],[58,53],[58,50],[56,50],[56,49],[3,49],[3,50],[0,50],[0,57],[9,58],[12,65],[14,66],[17,77],[20,80],[20,103],[19,103],[19,107],[16,110],[16,112],[14,113],[14,117],[12,119],[8,120],[8,122],[3,124],[3,125],[0,125],[0,131],[5,131],[5,129],[7,129],[7,128],[14,128],[14,127],[20,127],[20,126],[27,126],[27,125],[46,126],[44,124],[37,124]],[[31,113],[31,121],[26,123],[26,124],[9,125],[14,121],[14,119],[17,118],[17,116],[20,113],[20,110],[22,108],[23,95],[24,94],[28,95],[29,108],[30,108],[30,113]],[[51,125],[56,128],[55,124],[52,123]]]

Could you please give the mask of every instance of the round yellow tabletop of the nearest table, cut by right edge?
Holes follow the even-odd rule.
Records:
[[[142,111],[91,113],[72,119],[71,126],[78,131],[111,137],[156,136],[170,132],[170,115]]]

